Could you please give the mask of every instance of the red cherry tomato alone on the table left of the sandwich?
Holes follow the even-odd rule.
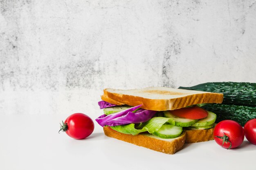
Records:
[[[94,123],[92,119],[83,113],[74,113],[62,121],[61,130],[74,139],[84,139],[92,134]]]

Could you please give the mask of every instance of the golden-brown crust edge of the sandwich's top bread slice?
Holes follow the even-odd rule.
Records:
[[[141,89],[145,90],[145,89]],[[177,90],[177,89],[176,89]],[[184,90],[183,90],[184,91]],[[190,90],[187,90],[190,92]],[[161,94],[160,94],[161,95]],[[180,109],[186,106],[196,105],[200,103],[222,103],[223,94],[203,92],[199,94],[188,94],[186,96],[170,98],[170,99],[150,99],[140,96],[133,96],[121,93],[109,92],[104,89],[104,95],[101,96],[102,100],[110,100],[123,103],[129,106],[142,105],[142,109],[166,111]]]

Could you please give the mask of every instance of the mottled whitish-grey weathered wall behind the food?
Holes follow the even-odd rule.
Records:
[[[256,0],[0,0],[0,114],[209,81],[256,82]]]

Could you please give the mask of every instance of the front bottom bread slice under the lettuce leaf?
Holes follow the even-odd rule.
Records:
[[[103,127],[104,133],[108,137],[113,137],[137,146],[142,146],[151,150],[155,150],[162,153],[174,154],[178,150],[182,149],[186,139],[186,133],[182,133],[179,137],[174,139],[162,139],[157,136],[140,133],[138,135],[127,135],[114,131],[110,127]]]

